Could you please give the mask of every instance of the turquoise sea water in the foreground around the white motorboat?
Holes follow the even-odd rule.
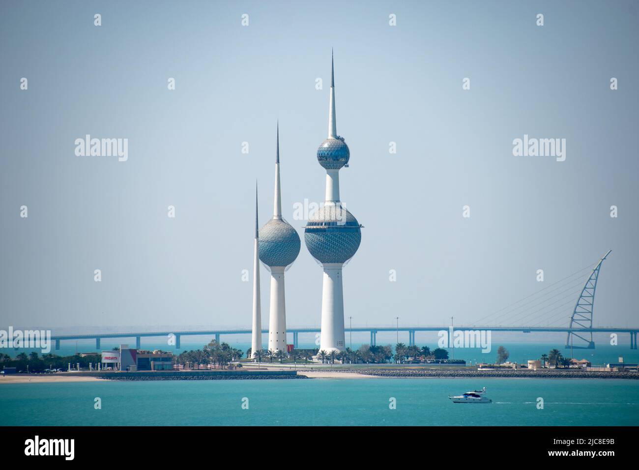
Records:
[[[493,403],[447,396],[486,386]],[[94,409],[95,398],[102,409]],[[537,398],[544,409],[537,409]],[[249,409],[242,409],[248,398]],[[395,398],[396,409],[389,409]],[[639,380],[307,379],[0,384],[0,425],[636,425]]]

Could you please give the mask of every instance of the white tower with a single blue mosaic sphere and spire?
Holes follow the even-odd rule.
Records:
[[[286,304],[284,302],[284,271],[300,253],[300,236],[282,219],[282,198],[279,176],[279,125],[275,156],[275,201],[273,218],[259,230],[259,259],[271,272],[271,303],[268,319],[268,349],[286,352]],[[254,330],[255,331],[255,330]]]

